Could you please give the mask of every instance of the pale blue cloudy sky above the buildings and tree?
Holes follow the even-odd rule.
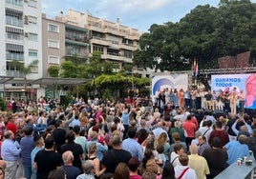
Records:
[[[179,22],[185,14],[199,5],[218,7],[220,0],[42,0],[42,11],[53,18],[60,11],[89,11],[93,16],[141,32],[149,30],[153,24]],[[256,3],[256,0],[251,0]]]

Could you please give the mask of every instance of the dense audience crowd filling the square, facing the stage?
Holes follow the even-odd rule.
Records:
[[[156,103],[73,98],[65,109],[12,99],[15,108],[0,112],[0,179],[211,179],[256,156],[256,115],[215,116],[184,94]]]

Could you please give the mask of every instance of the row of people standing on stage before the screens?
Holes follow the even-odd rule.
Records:
[[[252,100],[248,100],[243,89],[236,87],[230,89],[203,90],[203,89],[159,89],[155,94],[157,106],[173,103],[175,107],[190,109],[224,110],[237,113],[245,111],[245,106],[250,107]]]

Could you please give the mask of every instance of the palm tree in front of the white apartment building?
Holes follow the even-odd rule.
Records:
[[[30,73],[32,73],[32,70],[37,66],[38,63],[39,63],[39,60],[33,60],[28,66],[26,66],[25,63],[21,63],[19,61],[11,61],[11,66],[17,67],[18,70],[23,73],[25,98],[27,98],[27,85],[28,85],[27,76]]]

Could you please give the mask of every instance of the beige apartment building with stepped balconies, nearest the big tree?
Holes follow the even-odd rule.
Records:
[[[125,64],[131,64],[133,51],[139,48],[139,30],[97,18],[89,12],[68,10],[55,18],[67,25],[89,30],[89,56],[94,50],[101,51],[101,59],[115,64],[120,70]],[[67,43],[67,41],[66,41]]]

